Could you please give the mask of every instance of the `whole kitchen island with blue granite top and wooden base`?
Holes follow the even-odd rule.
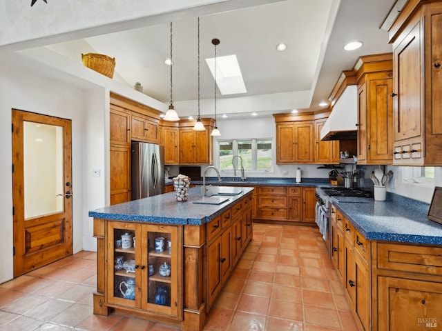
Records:
[[[253,188],[202,187],[89,212],[97,238],[94,314],[202,330],[252,234]]]

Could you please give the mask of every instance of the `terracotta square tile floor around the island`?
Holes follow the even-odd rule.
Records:
[[[0,331],[180,328],[93,314],[95,252],[79,252],[0,284]],[[254,224],[204,331],[357,330],[316,228]]]

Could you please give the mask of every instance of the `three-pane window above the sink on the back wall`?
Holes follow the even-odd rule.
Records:
[[[233,139],[218,140],[218,165],[221,171],[241,168],[253,172],[269,172],[273,170],[272,139]],[[235,157],[235,158],[234,158]]]

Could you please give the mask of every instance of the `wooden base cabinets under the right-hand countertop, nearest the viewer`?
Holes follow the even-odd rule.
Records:
[[[358,330],[442,330],[442,247],[369,241],[330,210],[332,262]]]

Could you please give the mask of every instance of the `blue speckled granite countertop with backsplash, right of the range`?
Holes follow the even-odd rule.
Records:
[[[442,225],[427,219],[428,203],[390,192],[386,201],[332,197],[330,202],[369,240],[442,245]]]

